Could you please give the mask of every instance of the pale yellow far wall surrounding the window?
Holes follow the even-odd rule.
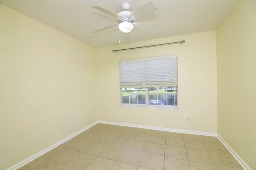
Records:
[[[132,45],[97,49],[99,120],[216,133],[216,32],[154,39],[134,43],[134,47],[183,39],[186,42],[182,45],[164,45],[116,53],[112,53],[112,49],[131,48]],[[178,111],[120,107],[118,61],[172,54],[178,54]],[[190,122],[187,117],[191,117]]]

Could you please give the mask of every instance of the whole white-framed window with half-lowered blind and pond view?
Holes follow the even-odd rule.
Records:
[[[119,61],[121,106],[178,108],[178,56]]]

